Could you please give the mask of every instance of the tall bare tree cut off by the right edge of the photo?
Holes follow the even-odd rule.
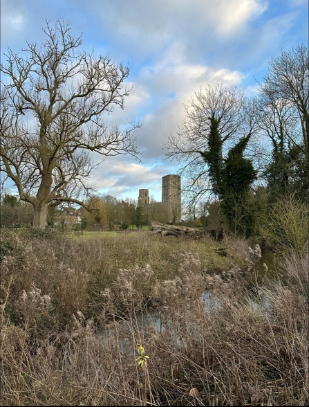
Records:
[[[268,161],[269,186],[291,193],[296,187],[308,198],[309,137],[308,47],[281,51],[270,60],[260,86],[263,114],[260,127],[272,143]]]

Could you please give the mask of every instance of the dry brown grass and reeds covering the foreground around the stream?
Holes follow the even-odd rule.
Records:
[[[205,405],[307,404],[306,259],[254,285],[245,241],[1,240],[3,405],[193,405],[192,388]]]

